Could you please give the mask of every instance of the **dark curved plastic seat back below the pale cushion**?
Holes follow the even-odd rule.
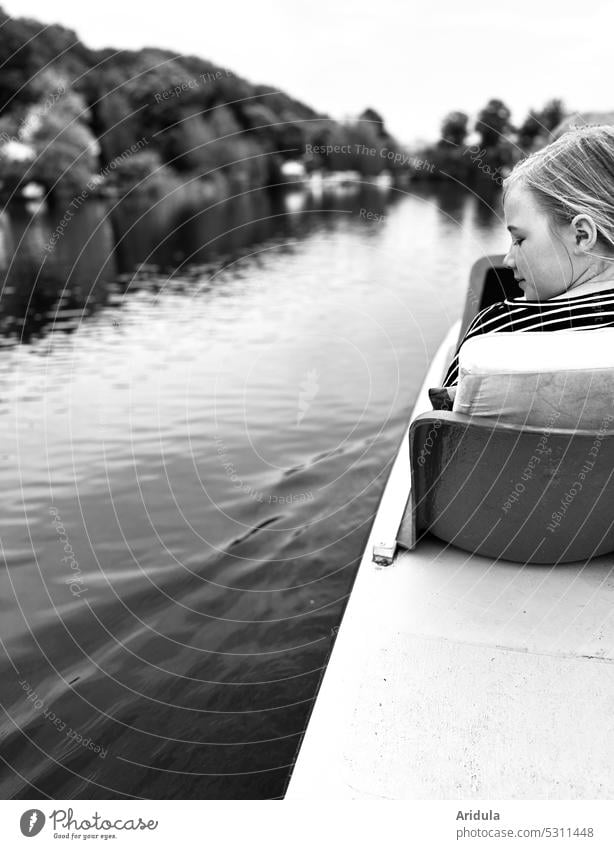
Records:
[[[613,422],[612,413],[598,429],[417,416],[410,531],[400,543],[412,548],[431,533],[465,551],[542,564],[614,551]]]

